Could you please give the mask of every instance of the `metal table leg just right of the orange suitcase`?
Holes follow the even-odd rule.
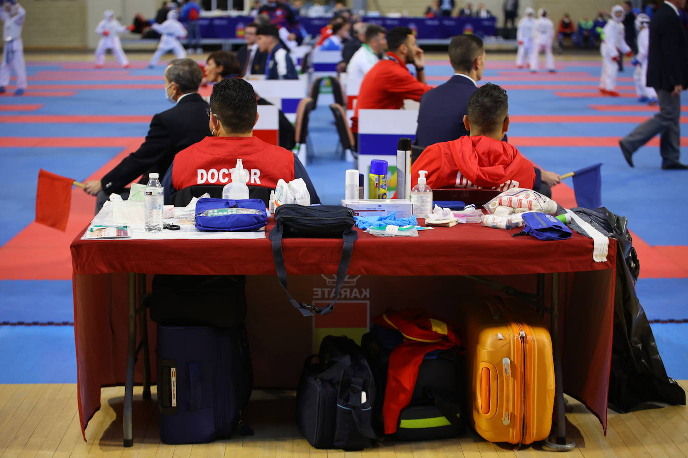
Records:
[[[555,452],[568,452],[576,448],[576,443],[566,442],[566,413],[563,400],[563,372],[561,371],[561,346],[559,345],[559,274],[552,273],[552,315],[550,334],[552,335],[552,350],[554,350],[555,364],[555,413],[557,417],[557,432],[555,442],[545,440],[543,448]]]

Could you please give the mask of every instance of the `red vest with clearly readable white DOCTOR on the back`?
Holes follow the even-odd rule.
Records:
[[[275,189],[277,180],[294,179],[294,154],[257,137],[205,137],[177,153],[172,186],[182,190],[193,185],[226,185],[229,170],[241,159],[249,172],[249,186]]]

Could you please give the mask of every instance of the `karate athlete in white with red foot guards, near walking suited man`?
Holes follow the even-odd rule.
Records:
[[[619,93],[614,90],[616,89],[616,75],[619,73],[619,51],[626,56],[632,56],[631,48],[624,38],[623,15],[621,5],[612,6],[612,17],[602,29],[603,41],[600,44],[600,54],[602,54],[600,92],[614,97],[619,97]]]

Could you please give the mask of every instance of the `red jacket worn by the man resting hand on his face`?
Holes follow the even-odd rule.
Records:
[[[376,63],[361,82],[356,112],[351,118],[354,133],[358,133],[359,108],[398,110],[404,106],[404,99],[420,102],[421,96],[432,89],[416,80],[396,54],[388,52],[387,57]]]

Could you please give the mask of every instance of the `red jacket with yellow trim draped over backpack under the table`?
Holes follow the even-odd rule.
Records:
[[[376,325],[396,329],[404,336],[389,355],[383,417],[385,434],[396,433],[399,415],[411,402],[418,369],[426,353],[460,345],[447,323],[424,310],[386,312],[374,319]]]

